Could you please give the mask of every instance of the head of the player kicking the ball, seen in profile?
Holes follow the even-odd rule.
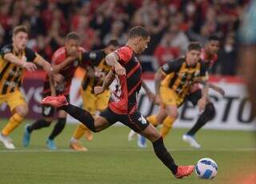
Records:
[[[150,42],[150,33],[142,26],[134,26],[129,31],[129,41],[133,42],[134,51],[141,54]]]

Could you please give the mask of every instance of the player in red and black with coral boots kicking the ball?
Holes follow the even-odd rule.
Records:
[[[158,158],[176,178],[183,178],[193,172],[194,166],[177,166],[166,150],[161,134],[137,110],[139,90],[141,86],[146,86],[142,82],[142,68],[137,56],[146,49],[149,42],[149,32],[142,26],[134,26],[129,31],[126,46],[106,56],[106,63],[113,68],[107,74],[102,86],[94,88],[94,93],[101,94],[113,82],[114,78],[117,80],[117,86],[110,95],[108,107],[97,118],[94,119],[87,110],[71,105],[64,96],[46,97],[42,99],[42,103],[65,110],[93,132],[104,130],[115,122],[122,122],[148,138],[152,142]]]

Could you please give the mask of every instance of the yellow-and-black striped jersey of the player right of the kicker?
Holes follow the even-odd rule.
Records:
[[[161,86],[174,90],[180,98],[186,97],[196,79],[208,78],[206,63],[201,60],[194,66],[187,66],[186,58],[178,58],[163,65],[161,71],[166,76]]]

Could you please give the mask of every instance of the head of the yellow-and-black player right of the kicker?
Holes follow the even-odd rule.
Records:
[[[190,42],[186,52],[186,63],[188,66],[194,66],[200,59],[201,45],[199,42]]]

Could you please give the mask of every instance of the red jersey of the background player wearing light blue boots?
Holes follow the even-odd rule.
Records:
[[[82,61],[84,61],[84,59],[82,58],[82,52],[84,51],[85,50],[82,47],[79,47],[79,52],[81,52],[81,54],[79,54],[78,59],[74,62],[70,62],[69,65],[65,66],[62,70],[59,71],[59,74],[62,74],[62,76],[64,77],[64,82],[55,87],[56,94],[68,95],[70,93],[70,85],[72,78],[74,77],[74,72],[78,68],[78,66],[82,64]],[[62,46],[54,52],[51,63],[53,65],[58,65],[61,62],[64,62],[67,57],[68,55],[66,53],[66,48],[65,46]],[[43,96],[50,95],[50,83],[48,76],[46,76],[42,94]]]

